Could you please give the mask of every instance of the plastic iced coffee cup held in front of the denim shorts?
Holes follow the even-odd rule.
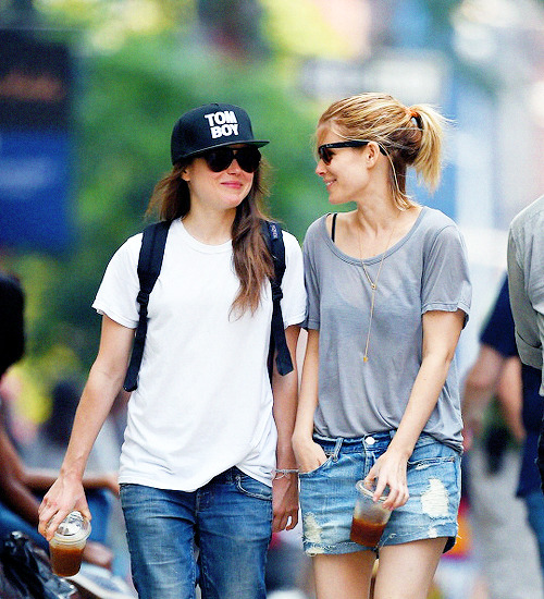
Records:
[[[374,501],[372,498],[375,485],[364,485],[362,480],[358,480],[355,487],[357,500],[349,538],[364,547],[378,547],[391,516],[391,511],[383,506],[387,494],[382,494],[378,501]]]

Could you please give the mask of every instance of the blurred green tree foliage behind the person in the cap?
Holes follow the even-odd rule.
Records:
[[[317,107],[273,62],[234,60],[190,36],[162,33],[81,56],[76,72],[73,247],[63,256],[11,258],[28,292],[29,363],[48,382],[64,369],[83,374],[94,359],[100,319],[90,303],[111,255],[145,224],[152,188],[171,168],[172,126],[185,110],[209,101],[246,108],[256,134],[271,139],[263,150],[272,167],[270,212],[299,240],[326,206],[313,174]]]

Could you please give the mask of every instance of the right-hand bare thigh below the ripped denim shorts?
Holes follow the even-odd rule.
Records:
[[[424,539],[380,549],[375,599],[425,599],[446,539]]]

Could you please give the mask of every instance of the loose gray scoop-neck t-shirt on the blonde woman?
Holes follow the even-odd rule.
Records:
[[[465,244],[452,219],[423,207],[418,220],[387,249],[369,327],[371,289],[360,259],[331,240],[321,217],[308,229],[305,277],[308,329],[319,329],[319,404],[314,430],[354,438],[396,429],[421,365],[422,315],[456,311],[467,317],[471,285]],[[364,260],[375,281],[382,255]],[[423,431],[458,451],[461,413],[455,360]]]

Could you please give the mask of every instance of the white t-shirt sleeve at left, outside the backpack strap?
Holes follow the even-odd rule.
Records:
[[[135,329],[138,323],[139,292],[138,256],[141,234],[127,240],[111,258],[92,307],[123,327]]]

